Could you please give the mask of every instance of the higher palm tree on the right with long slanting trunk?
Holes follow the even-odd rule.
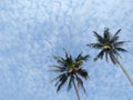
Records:
[[[133,81],[130,78],[129,73],[126,72],[124,67],[120,63],[120,61],[117,60],[117,57],[121,57],[119,52],[127,52],[127,50],[122,48],[122,46],[126,41],[119,40],[120,31],[121,31],[121,29],[119,29],[114,36],[111,36],[109,28],[104,29],[103,36],[100,36],[96,31],[93,31],[94,36],[96,37],[98,42],[90,43],[86,46],[101,50],[98,53],[98,56],[94,58],[94,61],[96,61],[98,59],[103,59],[103,57],[105,57],[105,60],[109,61],[108,59],[110,57],[111,61],[114,64],[117,64],[122,69],[122,71],[125,73],[126,78],[129,79],[129,81],[133,86]]]

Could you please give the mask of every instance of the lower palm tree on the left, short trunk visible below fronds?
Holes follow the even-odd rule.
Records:
[[[57,60],[58,66],[51,66],[53,67],[52,71],[59,73],[59,76],[53,79],[58,80],[55,83],[55,87],[58,87],[57,92],[64,84],[68,86],[68,90],[70,90],[73,84],[78,100],[80,100],[79,88],[81,87],[85,92],[82,78],[88,79],[89,77],[86,70],[82,69],[82,64],[89,57],[89,54],[82,56],[82,53],[80,53],[75,59],[73,59],[68,52],[65,52],[64,58],[57,56],[53,57]]]

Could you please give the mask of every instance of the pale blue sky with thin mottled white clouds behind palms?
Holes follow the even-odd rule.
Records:
[[[133,100],[133,87],[124,73],[104,60],[93,62],[98,50],[85,44],[96,41],[93,31],[112,34],[122,29],[124,46],[120,62],[133,79],[133,0],[0,0],[0,100],[76,100],[65,87],[55,92],[58,76],[52,56],[73,57],[83,52],[88,94],[81,100]]]

